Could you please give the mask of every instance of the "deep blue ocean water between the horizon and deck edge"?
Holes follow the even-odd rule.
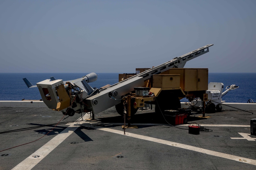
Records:
[[[22,78],[26,77],[33,85],[50,79],[74,80],[88,73],[0,73],[0,100],[39,100],[38,88],[27,88]],[[97,73],[98,80],[89,83],[92,87],[100,88],[106,84],[118,83],[119,73]],[[219,82],[226,86],[235,84],[238,89],[229,91],[222,100],[226,102],[247,103],[248,99],[256,102],[256,73],[209,73],[209,82]],[[187,101],[182,99],[182,101]]]

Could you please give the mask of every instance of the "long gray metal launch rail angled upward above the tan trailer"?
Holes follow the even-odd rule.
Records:
[[[85,99],[85,103],[87,105],[86,108],[92,110],[93,114],[98,114],[110,107],[113,107],[121,102],[120,99],[123,95],[133,91],[134,87],[144,86],[144,81],[152,77],[154,74],[160,74],[166,70],[169,70],[170,68],[183,68],[187,61],[208,53],[209,47],[212,45],[213,44],[206,45],[183,56],[176,57],[150,70],[144,71],[140,74],[134,75],[126,80],[102,89],[100,90],[100,93]],[[115,96],[115,98],[118,100],[109,97],[109,93],[111,92],[113,94],[114,91],[118,92],[118,95]]]

